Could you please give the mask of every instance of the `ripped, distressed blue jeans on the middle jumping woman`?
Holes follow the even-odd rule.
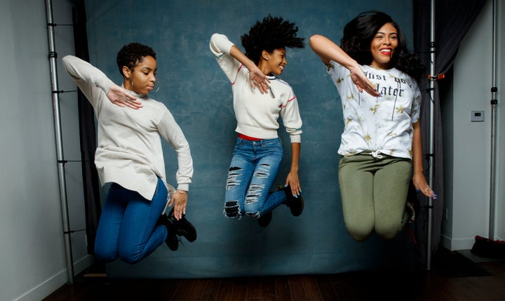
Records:
[[[270,192],[282,159],[279,138],[252,141],[237,138],[228,171],[224,215],[260,218],[284,203],[283,191]]]

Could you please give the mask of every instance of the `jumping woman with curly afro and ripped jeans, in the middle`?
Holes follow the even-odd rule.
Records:
[[[261,227],[271,211],[285,204],[292,215],[302,214],[304,202],[298,178],[302,119],[291,86],[279,79],[286,64],[286,48],[303,48],[298,27],[283,18],[267,16],[241,36],[243,53],[227,36],[213,34],[210,51],[231,83],[237,121],[224,215],[257,218]],[[291,141],[291,168],[284,185],[270,192],[277,178],[283,147],[278,138],[281,116]]]

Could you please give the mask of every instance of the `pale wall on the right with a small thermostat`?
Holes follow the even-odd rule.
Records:
[[[504,8],[499,4],[499,43],[504,44],[505,20]],[[445,207],[449,217],[443,225],[443,246],[452,250],[471,249],[475,236],[488,237],[490,208],[490,145],[491,145],[491,92],[492,86],[492,0],[487,1],[473,27],[459,48],[454,62],[454,86],[452,102],[445,105],[445,168],[447,192]],[[501,54],[500,54],[501,53]],[[503,61],[498,51],[498,60]],[[503,66],[500,62],[499,66]],[[505,88],[504,71],[497,68],[499,90]],[[505,124],[501,125],[500,116],[504,116],[503,93],[498,94],[497,137],[499,139],[497,168],[497,226],[498,239],[504,232],[505,178],[504,160]],[[484,111],[484,122],[471,122],[471,111]],[[503,118],[503,117],[502,117]],[[501,135],[500,135],[501,134]],[[500,151],[501,150],[501,151]],[[453,168],[453,169],[452,169]]]

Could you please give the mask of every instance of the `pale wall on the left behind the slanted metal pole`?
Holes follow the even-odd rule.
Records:
[[[72,22],[67,0],[53,5],[56,23]],[[55,30],[62,56],[72,27]],[[45,1],[2,1],[0,56],[0,300],[41,300],[67,283]],[[62,100],[62,115],[65,159],[79,160],[76,104]],[[66,170],[71,229],[83,229],[80,163]],[[72,236],[76,273],[90,265],[83,235]]]

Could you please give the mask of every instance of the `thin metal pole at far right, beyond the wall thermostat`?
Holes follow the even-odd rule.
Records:
[[[490,168],[490,221],[488,238],[494,240],[494,203],[496,200],[495,183],[496,183],[496,126],[497,117],[496,110],[498,105],[496,86],[496,50],[497,50],[497,2],[493,0],[492,13],[492,64],[491,64],[491,168]]]

